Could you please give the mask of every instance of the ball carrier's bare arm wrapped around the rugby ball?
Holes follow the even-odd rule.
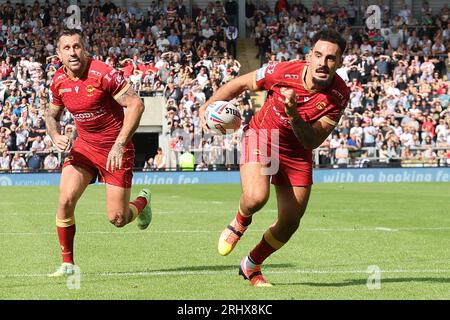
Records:
[[[214,101],[229,101],[238,95],[240,95],[244,90],[256,91],[259,90],[256,85],[256,71],[249,72],[243,76],[237,77],[230,82],[226,83],[220,87],[208,101],[205,102],[203,106],[200,107],[199,116],[201,121],[201,127],[207,129],[205,124],[205,112],[206,107],[213,103]]]

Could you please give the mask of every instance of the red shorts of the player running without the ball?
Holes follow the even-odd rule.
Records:
[[[133,144],[129,143],[125,147],[122,169],[113,173],[106,171],[106,161],[110,151],[110,148],[99,148],[87,144],[81,139],[76,139],[69,156],[64,160],[63,169],[69,165],[82,167],[94,175],[92,182],[95,182],[95,178],[98,178],[99,182],[126,189],[131,188],[134,166]]]

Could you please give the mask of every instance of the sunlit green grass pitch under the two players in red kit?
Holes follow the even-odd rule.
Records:
[[[136,195],[141,186],[133,188]],[[235,251],[217,253],[239,185],[151,186],[153,222],[116,229],[103,186],[76,211],[79,289],[48,278],[60,263],[57,187],[0,189],[0,299],[450,299],[450,184],[318,184],[300,230],[271,256],[272,288],[238,264],[276,217],[275,194]],[[369,289],[369,266],[381,270]]]

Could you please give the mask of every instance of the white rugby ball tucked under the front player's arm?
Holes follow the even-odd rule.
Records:
[[[241,126],[241,112],[229,101],[216,101],[206,107],[205,121],[211,131],[229,134]]]

